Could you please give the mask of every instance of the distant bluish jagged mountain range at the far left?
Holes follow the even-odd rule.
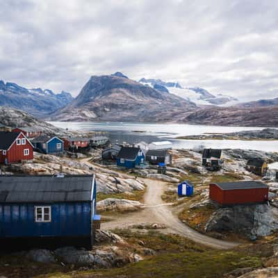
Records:
[[[36,117],[43,117],[66,106],[73,97],[69,92],[54,94],[41,88],[27,89],[15,83],[0,81],[0,106],[26,111]]]

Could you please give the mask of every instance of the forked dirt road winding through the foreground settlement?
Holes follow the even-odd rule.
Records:
[[[152,179],[145,179],[147,191],[145,194],[145,209],[135,213],[126,213],[121,218],[111,222],[101,224],[101,229],[127,228],[134,224],[142,223],[159,223],[165,224],[167,229],[163,232],[172,232],[190,238],[197,243],[202,243],[209,247],[217,249],[230,249],[238,245],[238,243],[229,243],[224,240],[218,240],[200,234],[191,229],[186,224],[183,224],[171,211],[170,205],[163,203],[161,195],[163,194],[165,183]]]

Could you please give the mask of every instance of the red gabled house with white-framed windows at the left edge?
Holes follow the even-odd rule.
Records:
[[[33,145],[22,132],[0,131],[0,163],[10,164],[33,159]]]

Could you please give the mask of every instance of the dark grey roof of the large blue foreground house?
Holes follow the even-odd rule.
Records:
[[[90,201],[93,179],[92,175],[0,176],[0,203]]]

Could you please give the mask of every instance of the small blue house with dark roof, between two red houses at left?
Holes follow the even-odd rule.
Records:
[[[35,150],[44,154],[58,154],[64,151],[64,142],[58,137],[38,136],[32,140]]]

